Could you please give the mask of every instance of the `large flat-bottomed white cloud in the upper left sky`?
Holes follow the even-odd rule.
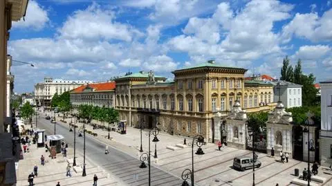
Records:
[[[131,41],[140,32],[131,26],[115,21],[114,12],[102,10],[93,3],[86,10],[77,10],[68,17],[59,29],[60,37],[65,39],[118,39]]]

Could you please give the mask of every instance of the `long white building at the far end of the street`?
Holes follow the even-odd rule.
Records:
[[[55,93],[62,94],[71,91],[82,84],[93,83],[86,80],[62,80],[45,77],[44,82],[35,84],[35,100],[38,106],[49,106]]]

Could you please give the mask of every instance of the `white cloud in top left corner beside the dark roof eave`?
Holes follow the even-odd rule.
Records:
[[[39,6],[37,1],[29,1],[26,10],[26,17],[17,22],[13,22],[13,28],[32,28],[33,30],[42,30],[50,21],[47,10]]]

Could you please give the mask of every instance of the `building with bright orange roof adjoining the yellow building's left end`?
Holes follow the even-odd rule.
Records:
[[[70,92],[71,104],[80,106],[89,104],[93,106],[113,108],[115,102],[116,82],[86,84]]]

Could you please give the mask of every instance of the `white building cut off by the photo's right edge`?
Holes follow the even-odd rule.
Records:
[[[320,162],[329,167],[332,163],[332,80],[320,82],[321,130]]]

